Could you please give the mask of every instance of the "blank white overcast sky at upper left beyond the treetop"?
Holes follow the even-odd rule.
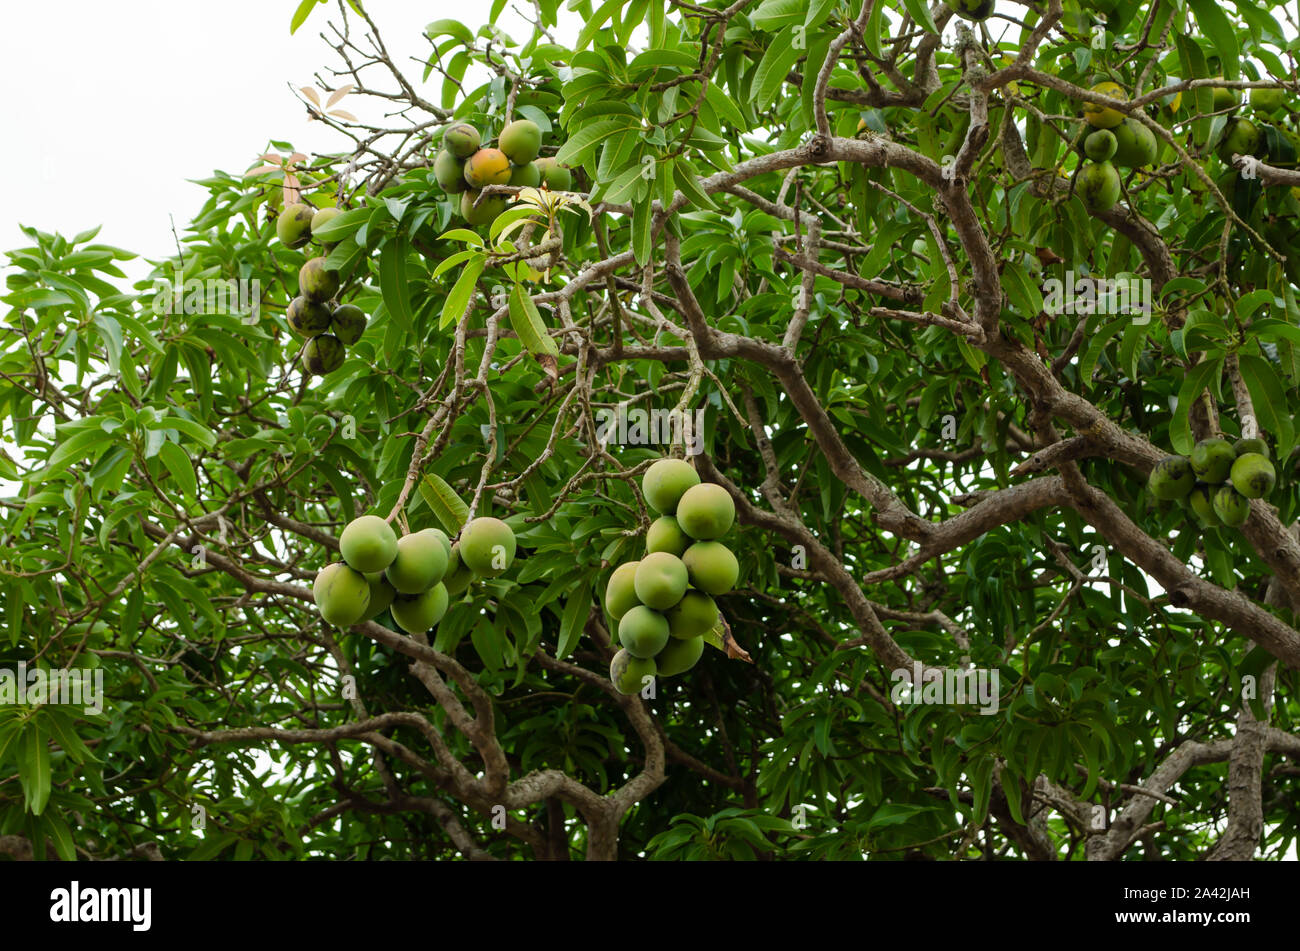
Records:
[[[298,0],[5,4],[0,251],[30,244],[20,223],[68,236],[103,223],[98,240],[161,257],[174,249],[168,216],[179,231],[207,197],[188,179],[214,169],[242,173],[268,139],[306,153],[344,148],[344,139],[308,120],[290,91],[315,84],[315,73],[338,62],[320,36],[337,6],[320,6],[290,36],[296,6]],[[419,81],[422,70],[408,57],[428,48],[424,26],[451,17],[477,29],[489,4],[367,0],[365,6],[394,58],[406,60],[404,71]],[[507,9],[499,25],[524,40],[520,22]],[[429,97],[437,101],[439,90],[430,77]],[[344,104],[356,110],[355,97]]]

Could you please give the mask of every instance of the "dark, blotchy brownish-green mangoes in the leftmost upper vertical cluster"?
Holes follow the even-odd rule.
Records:
[[[276,235],[286,248],[300,248],[312,240],[325,222],[339,213],[337,208],[316,210],[308,204],[291,204],[276,221]],[[285,320],[289,329],[306,336],[303,366],[318,377],[343,365],[347,348],[365,333],[365,313],[355,304],[339,304],[338,272],[325,266],[324,257],[313,257],[298,272],[298,296],[289,301]]]

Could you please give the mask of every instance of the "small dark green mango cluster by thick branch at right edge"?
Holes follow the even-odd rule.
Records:
[[[1277,473],[1262,439],[1201,439],[1191,456],[1165,456],[1150,470],[1150,494],[1182,500],[1204,527],[1236,527],[1251,517],[1251,499],[1273,491]]]

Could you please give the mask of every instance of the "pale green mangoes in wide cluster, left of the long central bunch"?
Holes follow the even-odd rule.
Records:
[[[476,578],[495,578],[515,560],[515,533],[499,518],[474,518],[452,544],[441,529],[398,538],[378,516],[354,518],[338,538],[343,560],[312,586],[321,618],[339,628],[385,611],[408,634],[422,634],[447,613],[451,598]]]

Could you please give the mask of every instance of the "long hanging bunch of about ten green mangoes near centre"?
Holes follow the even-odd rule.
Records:
[[[646,555],[614,569],[604,589],[604,609],[619,624],[610,679],[620,694],[636,694],[646,677],[693,668],[703,635],[719,621],[714,598],[740,577],[736,556],[718,540],[736,521],[725,488],[701,482],[689,463],[660,459],[641,492],[659,513],[646,531]]]

